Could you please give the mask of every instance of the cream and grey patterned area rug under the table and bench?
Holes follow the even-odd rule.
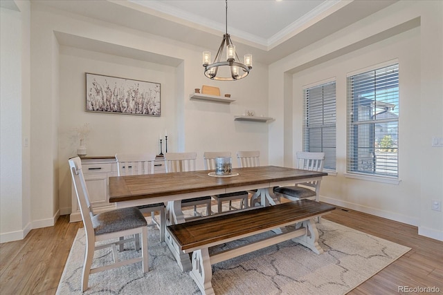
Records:
[[[321,255],[289,240],[213,265],[215,294],[346,294],[410,250],[324,218],[317,228],[325,250]],[[148,232],[150,272],[143,274],[141,263],[135,263],[91,274],[84,294],[201,294],[160,242],[159,230],[151,224]],[[82,294],[84,240],[84,229],[79,229],[57,294]],[[141,252],[128,244],[120,255]],[[110,260],[108,250],[96,251],[95,265]]]

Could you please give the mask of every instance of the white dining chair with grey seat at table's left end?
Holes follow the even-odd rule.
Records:
[[[79,157],[69,159],[69,167],[73,179],[73,186],[80,204],[84,230],[86,232],[86,254],[82,270],[82,291],[88,289],[89,274],[102,272],[110,268],[142,262],[143,273],[148,272],[147,254],[147,222],[145,216],[138,208],[129,207],[105,211],[94,214],[89,193],[84,181],[82,162]],[[127,238],[130,236],[130,238]],[[125,237],[123,240],[116,238]],[[141,245],[140,245],[141,238]],[[105,245],[96,245],[96,242],[113,240]],[[141,257],[120,260],[118,257],[117,245],[126,242],[135,242],[136,250],[141,248]],[[110,247],[114,263],[92,267],[94,252],[98,249]]]

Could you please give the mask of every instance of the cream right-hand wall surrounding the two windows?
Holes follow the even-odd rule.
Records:
[[[431,200],[443,198],[443,149],[431,147],[431,137],[443,134],[442,11],[441,1],[399,1],[272,64],[269,87],[278,89],[278,98],[269,104],[270,115],[284,117],[269,134],[270,163],[293,162],[302,149],[303,86],[335,77],[337,174],[322,182],[321,199],[417,225],[419,234],[443,240],[442,212],[431,211]],[[391,59],[399,61],[401,182],[345,178],[346,74]],[[284,113],[290,103],[293,112]],[[285,135],[291,130],[292,142],[279,136],[282,128]],[[293,153],[282,159],[282,150]]]

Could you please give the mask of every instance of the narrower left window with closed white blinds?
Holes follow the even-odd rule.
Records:
[[[306,88],[303,150],[325,153],[325,169],[336,169],[335,82]]]

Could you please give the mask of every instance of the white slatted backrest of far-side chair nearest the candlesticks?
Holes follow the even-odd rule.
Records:
[[[154,173],[154,153],[116,154],[118,176]]]

